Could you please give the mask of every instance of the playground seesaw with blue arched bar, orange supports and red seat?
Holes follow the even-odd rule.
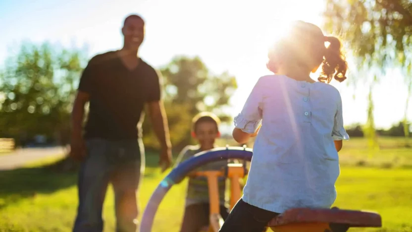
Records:
[[[182,162],[168,174],[157,186],[143,213],[140,232],[151,232],[157,208],[167,191],[186,176],[205,176],[207,178],[210,201],[209,227],[207,232],[218,232],[223,224],[219,212],[219,195],[217,178],[225,176],[230,179],[230,210],[241,198],[239,178],[244,177],[248,170],[246,161],[252,160],[252,149],[246,147],[215,148],[200,152],[194,157]],[[208,163],[221,160],[243,160],[242,164],[228,164],[221,171],[195,171]],[[273,232],[332,232],[329,224],[344,224],[355,227],[382,227],[379,214],[359,210],[294,208],[273,218],[268,227]]]

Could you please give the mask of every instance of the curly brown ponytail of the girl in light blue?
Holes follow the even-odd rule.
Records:
[[[342,82],[346,79],[345,74],[348,68],[345,56],[342,54],[342,43],[332,36],[325,36],[325,42],[329,42],[329,46],[325,50],[322,72],[318,80],[329,83],[333,77]]]

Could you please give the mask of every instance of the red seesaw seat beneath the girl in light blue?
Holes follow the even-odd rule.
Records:
[[[296,208],[273,218],[274,232],[332,232],[330,224],[346,227],[382,227],[379,214],[366,211]]]

